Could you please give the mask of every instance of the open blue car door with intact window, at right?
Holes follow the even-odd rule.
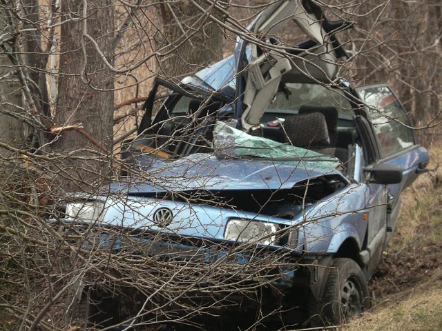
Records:
[[[376,163],[399,165],[403,170],[403,181],[387,187],[385,248],[396,227],[400,194],[425,172],[428,153],[416,141],[405,108],[387,85],[364,86],[356,90],[367,106],[368,119],[374,129],[379,154]]]

